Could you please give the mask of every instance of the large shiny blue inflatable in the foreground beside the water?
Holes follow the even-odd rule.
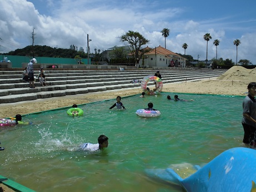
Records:
[[[256,191],[256,150],[232,148],[218,155],[188,178],[173,169],[146,170],[147,174],[180,185],[185,191]]]

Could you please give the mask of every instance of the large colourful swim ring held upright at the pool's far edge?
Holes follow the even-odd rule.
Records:
[[[157,83],[157,86],[156,86],[156,90],[154,90],[154,92],[149,92],[147,90],[147,84],[150,80],[154,80],[156,83]],[[143,89],[143,91],[148,94],[148,95],[157,95],[158,93],[161,92],[161,90],[163,89],[163,82],[162,82],[162,79],[160,79],[159,77],[157,76],[154,76],[154,75],[148,75],[146,77],[143,78],[141,84],[140,84],[140,87]]]

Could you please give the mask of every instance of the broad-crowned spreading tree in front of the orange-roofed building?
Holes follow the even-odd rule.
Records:
[[[130,53],[133,55],[134,61],[139,62],[142,58],[144,52],[141,52],[140,49],[145,44],[149,43],[148,39],[145,39],[142,34],[139,32],[128,31],[126,34],[123,34],[121,37],[118,37],[121,42],[127,42],[129,46]]]

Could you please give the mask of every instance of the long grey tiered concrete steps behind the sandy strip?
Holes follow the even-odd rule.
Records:
[[[218,77],[224,71],[218,70],[161,70],[163,83]],[[47,87],[38,82],[36,88],[29,88],[22,80],[22,72],[0,71],[0,103],[76,95],[105,90],[139,87],[130,83],[153,75],[155,70],[45,70]],[[35,71],[35,75],[38,72]],[[152,85],[153,82],[149,82]]]

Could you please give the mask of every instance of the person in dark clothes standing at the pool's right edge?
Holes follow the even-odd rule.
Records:
[[[256,82],[249,83],[248,95],[243,101],[243,119],[242,125],[244,128],[244,144],[250,144],[255,146],[255,136],[256,136]]]

